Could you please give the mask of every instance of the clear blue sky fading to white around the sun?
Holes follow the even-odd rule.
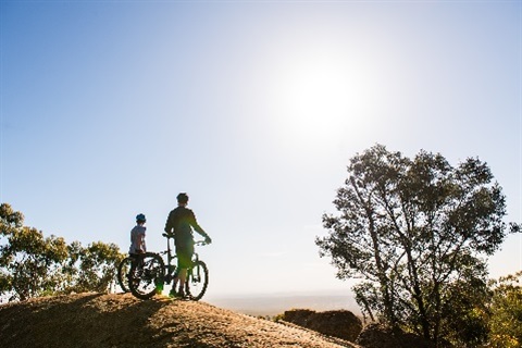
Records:
[[[150,251],[186,191],[208,296],[349,291],[316,236],[382,144],[487,162],[522,222],[521,1],[0,2],[0,201]],[[489,258],[522,270],[522,236]]]

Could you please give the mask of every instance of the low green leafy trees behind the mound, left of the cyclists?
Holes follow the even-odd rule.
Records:
[[[0,204],[0,296],[10,300],[72,291],[107,291],[117,262],[124,257],[117,246],[44,237],[41,231],[23,225],[24,215],[10,204]]]

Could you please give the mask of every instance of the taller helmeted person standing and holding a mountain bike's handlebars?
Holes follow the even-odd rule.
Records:
[[[171,296],[185,297],[184,285],[187,277],[187,269],[192,264],[194,236],[192,227],[204,237],[204,243],[210,244],[209,235],[198,225],[196,215],[187,208],[188,196],[185,192],[177,195],[177,208],[169,213],[165,232],[169,237],[174,237],[177,254],[177,272],[171,289]],[[179,281],[179,290],[176,293],[176,285]]]

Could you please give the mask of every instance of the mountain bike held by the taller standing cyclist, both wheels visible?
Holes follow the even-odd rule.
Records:
[[[161,252],[145,252],[137,257],[137,260],[130,262],[130,271],[128,273],[128,288],[134,296],[140,299],[149,299],[154,294],[161,294],[164,284],[171,284],[177,275],[177,259],[172,253],[171,239],[172,235],[163,234],[166,237],[166,250]],[[203,246],[204,241],[198,240],[195,246]],[[162,254],[166,254],[166,264],[162,259]],[[209,285],[209,270],[207,264],[199,260],[198,253],[194,252],[192,264],[187,270],[185,281],[186,299],[197,301],[201,299],[207,291]]]

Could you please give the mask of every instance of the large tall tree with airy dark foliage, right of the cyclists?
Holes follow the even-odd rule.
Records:
[[[435,343],[481,341],[480,324],[460,325],[461,333],[452,326],[480,315],[484,257],[508,233],[505,196],[493,179],[475,158],[453,167],[438,153],[410,159],[376,145],[350,160],[334,200],[338,214],[323,215],[328,235],[315,243],[339,278],[362,278],[353,291],[366,315]]]

